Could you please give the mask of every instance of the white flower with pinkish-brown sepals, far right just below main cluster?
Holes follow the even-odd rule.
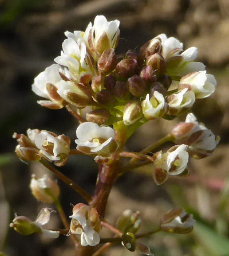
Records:
[[[175,136],[176,143],[188,145],[189,153],[195,158],[210,156],[219,143],[219,137],[199,124],[192,113],[187,115],[185,122],[178,123],[171,133]]]

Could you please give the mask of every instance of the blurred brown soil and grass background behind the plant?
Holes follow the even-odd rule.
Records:
[[[177,37],[189,46],[199,48],[198,61],[206,64],[208,73],[218,80],[210,98],[197,101],[194,113],[221,142],[213,156],[191,160],[191,176],[169,179],[157,187],[152,180],[152,166],[125,174],[109,197],[106,219],[115,223],[125,209],[141,211],[142,231],[152,229],[163,213],[183,207],[197,220],[188,235],[156,234],[143,242],[156,256],[228,256],[229,200],[229,1],[228,0],[1,0],[0,1],[0,255],[73,255],[72,244],[62,236],[47,240],[39,235],[21,236],[9,230],[14,213],[35,220],[44,204],[38,203],[29,191],[32,173],[41,177],[46,170],[39,164],[26,165],[15,157],[17,144],[14,131],[27,128],[52,130],[73,139],[77,122],[65,110],[48,110],[36,103],[31,91],[33,79],[54,57],[60,55],[64,32],[85,30],[97,14],[108,20],[120,20],[121,38],[117,53],[139,49],[157,34]],[[180,117],[180,120],[184,117]],[[137,151],[171,131],[179,122],[153,121],[129,139],[127,149]],[[74,148],[72,143],[72,148]],[[169,145],[168,145],[169,146]],[[61,169],[89,193],[96,182],[96,165],[90,157],[69,157]],[[72,204],[82,201],[65,184],[61,201],[69,216]],[[50,207],[50,205],[46,205]],[[60,227],[53,214],[50,227]],[[139,255],[112,247],[104,255]]]

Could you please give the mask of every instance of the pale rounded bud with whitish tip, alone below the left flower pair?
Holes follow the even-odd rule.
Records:
[[[35,179],[35,176],[32,176],[30,189],[33,196],[42,203],[52,204],[60,195],[59,186],[47,175],[41,179]]]

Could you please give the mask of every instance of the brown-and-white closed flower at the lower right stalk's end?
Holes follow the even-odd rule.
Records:
[[[183,209],[173,209],[167,212],[160,221],[161,230],[168,233],[186,234],[192,231],[195,220],[192,214]]]

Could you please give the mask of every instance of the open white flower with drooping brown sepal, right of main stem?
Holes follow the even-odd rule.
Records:
[[[155,156],[155,170],[153,179],[157,185],[165,182],[169,175],[178,175],[184,172],[188,164],[187,145],[177,145],[170,148],[166,153],[157,152]]]

